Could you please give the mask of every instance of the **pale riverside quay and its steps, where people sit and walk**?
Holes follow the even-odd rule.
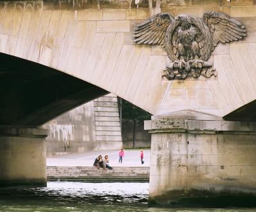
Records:
[[[145,163],[140,163],[140,149],[125,150],[123,163],[118,163],[118,150],[90,151],[47,158],[48,181],[85,182],[148,182],[150,149],[144,151]],[[109,155],[113,170],[93,167],[95,158]]]

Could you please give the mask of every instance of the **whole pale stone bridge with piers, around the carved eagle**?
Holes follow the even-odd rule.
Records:
[[[217,70],[216,76],[163,79],[161,72],[168,61],[166,52],[157,45],[134,43],[132,29],[160,11],[173,16],[184,13],[202,17],[208,10],[221,11],[239,20],[246,27],[246,38],[216,47],[209,59]],[[152,151],[150,195],[158,198],[158,204],[162,204],[163,199],[164,204],[179,202],[179,192],[186,193],[189,189],[201,191],[204,188],[212,193],[210,188],[217,192],[237,188],[239,192],[256,192],[256,128],[254,123],[248,123],[256,117],[255,1],[142,0],[138,4],[128,0],[0,1],[0,52],[0,124],[4,135],[0,153],[3,151],[1,156],[5,159],[12,158],[6,159],[8,162],[1,159],[1,185],[45,183],[43,137],[46,133],[35,127],[111,92],[154,115],[145,128],[153,133],[152,148],[156,153]],[[180,110],[185,112],[180,113]],[[183,121],[176,123],[169,119]],[[191,119],[196,120],[191,124]],[[197,133],[204,135],[199,135],[200,139],[190,138]],[[165,134],[183,139],[163,137]],[[33,146],[30,143],[35,137],[40,141]],[[20,139],[28,146],[21,144]],[[233,140],[235,146],[232,146]],[[196,149],[198,144],[205,146]],[[239,148],[240,152],[233,151]],[[218,153],[218,149],[225,151]],[[31,157],[24,158],[24,154]],[[173,159],[173,154],[178,155],[177,160]],[[179,155],[182,158],[198,156],[198,160],[190,161],[187,157],[183,161]],[[240,155],[244,163],[233,170],[232,166],[241,162],[233,159],[225,169],[225,160],[216,156],[212,163],[211,155]],[[25,167],[27,163],[37,167],[36,171],[24,174],[26,169],[22,165],[13,164],[18,160],[18,164],[26,164]],[[175,169],[165,169],[166,165]],[[196,170],[197,165],[207,166],[207,169]],[[179,174],[171,178],[173,170],[178,169]],[[241,173],[237,174],[236,170]],[[218,179],[216,172],[220,172]],[[188,179],[182,178],[184,173]],[[198,176],[205,183],[195,181]],[[162,182],[157,184],[159,179]],[[174,195],[170,190],[178,192]]]

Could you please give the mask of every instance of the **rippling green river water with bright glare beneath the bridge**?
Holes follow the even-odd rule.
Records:
[[[47,188],[0,190],[0,211],[256,211],[148,208],[148,183],[49,182]]]

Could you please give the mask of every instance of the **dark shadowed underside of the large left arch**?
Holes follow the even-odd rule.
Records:
[[[0,125],[38,126],[108,91],[0,53]]]

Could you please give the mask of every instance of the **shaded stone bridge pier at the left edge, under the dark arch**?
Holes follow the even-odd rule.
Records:
[[[40,128],[0,127],[0,187],[46,186],[47,134]]]

